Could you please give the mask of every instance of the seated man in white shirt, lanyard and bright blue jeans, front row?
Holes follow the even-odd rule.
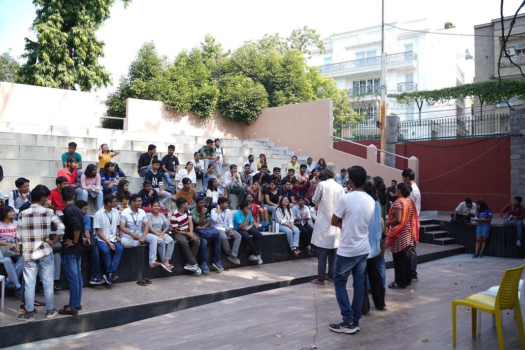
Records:
[[[102,277],[106,283],[113,284],[119,278],[117,269],[124,251],[120,242],[120,211],[116,209],[117,198],[114,195],[106,195],[103,200],[104,207],[93,217],[93,228],[97,231],[95,239],[106,269]]]

